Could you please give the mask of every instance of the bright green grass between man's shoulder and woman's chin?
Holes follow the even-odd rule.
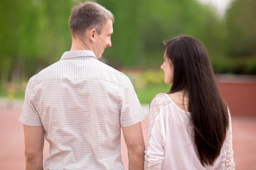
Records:
[[[149,84],[142,89],[135,89],[140,103],[149,104],[156,94],[170,91],[170,84]]]

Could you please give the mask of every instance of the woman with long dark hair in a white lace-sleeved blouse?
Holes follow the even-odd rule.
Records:
[[[149,106],[145,169],[235,169],[228,107],[203,43],[179,36],[164,46],[167,94]]]

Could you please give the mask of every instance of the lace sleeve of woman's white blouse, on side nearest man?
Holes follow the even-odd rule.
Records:
[[[146,150],[145,150],[145,162],[144,169],[149,168],[149,155],[147,151],[149,149],[149,141],[151,140],[151,131],[154,127],[154,123],[156,121],[157,116],[160,113],[160,108],[171,103],[168,99],[166,99],[166,94],[158,94],[156,95],[150,103],[149,106],[149,131],[148,131],[148,140],[146,142]]]

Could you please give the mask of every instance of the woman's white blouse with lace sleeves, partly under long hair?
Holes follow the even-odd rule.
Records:
[[[191,138],[189,114],[167,94],[158,94],[151,101],[144,169],[235,169],[231,118],[220,156],[213,166],[203,166]]]

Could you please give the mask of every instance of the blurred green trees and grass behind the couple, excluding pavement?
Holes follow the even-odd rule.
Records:
[[[28,79],[70,50],[68,18],[79,2],[1,0],[0,96],[23,98]],[[115,19],[102,61],[130,77],[142,103],[169,91],[160,69],[163,41],[177,35],[200,39],[216,74],[256,74],[255,0],[97,2]]]

